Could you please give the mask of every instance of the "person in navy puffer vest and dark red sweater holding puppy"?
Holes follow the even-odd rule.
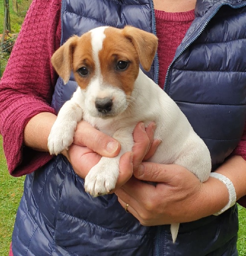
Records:
[[[104,12],[102,12],[104,10]],[[0,82],[0,132],[9,171],[26,174],[12,235],[13,255],[236,256],[236,200],[246,195],[246,1],[34,0]],[[120,160],[116,189],[91,198],[84,180],[119,143],[79,122],[57,157],[47,138],[76,88],[50,64],[73,34],[136,26],[159,46],[148,76],[173,98],[208,146],[205,183],[178,165],[145,162],[159,143],[140,122]],[[217,175],[216,175],[217,174]],[[142,181],[152,181],[156,186]],[[175,243],[171,223],[181,223]]]

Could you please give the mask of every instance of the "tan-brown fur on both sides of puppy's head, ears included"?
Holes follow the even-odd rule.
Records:
[[[108,27],[104,31],[106,37],[103,47],[98,52],[103,82],[124,90],[130,95],[134,82],[139,73],[139,62],[145,70],[149,70],[157,48],[156,36],[134,27],[126,26],[124,29]],[[74,36],[60,47],[52,56],[52,64],[57,73],[69,80],[72,70],[79,87],[85,89],[95,75],[95,63],[91,32],[81,37]],[[127,61],[125,70],[117,69],[119,61]],[[79,74],[79,69],[88,70],[86,76]]]

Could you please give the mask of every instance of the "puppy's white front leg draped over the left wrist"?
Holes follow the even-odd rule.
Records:
[[[83,111],[77,103],[78,97],[75,97],[75,93],[72,99],[64,103],[51,128],[48,137],[48,148],[50,154],[57,155],[64,149],[68,149],[72,144],[77,124],[83,117]]]

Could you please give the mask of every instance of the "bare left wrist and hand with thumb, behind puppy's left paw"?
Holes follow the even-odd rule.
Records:
[[[24,129],[24,145],[36,151],[48,152],[49,132],[57,116],[52,113],[39,113],[33,116]],[[81,177],[85,177],[90,168],[101,158],[101,155],[114,157],[119,154],[119,143],[93,128],[89,123],[78,123],[73,144],[63,154]]]

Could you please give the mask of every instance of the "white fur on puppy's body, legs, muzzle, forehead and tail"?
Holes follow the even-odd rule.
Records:
[[[104,29],[92,33],[93,55],[102,47]],[[98,57],[94,60],[99,67]],[[113,116],[100,118],[95,108],[97,97],[113,99]],[[102,157],[85,178],[85,189],[93,196],[104,195],[115,188],[119,176],[119,159],[133,147],[133,129],[140,121],[145,126],[156,122],[154,138],[162,140],[150,162],[179,164],[194,173],[200,181],[208,179],[211,158],[207,146],[194,132],[188,119],[176,103],[140,69],[130,99],[124,91],[104,84],[100,70],[85,90],[80,87],[72,99],[64,104],[58,113],[49,134],[48,148],[51,154],[67,149],[73,140],[74,131],[81,119],[90,122],[98,130],[114,137],[121,143],[117,157]],[[176,240],[179,224],[171,224],[173,241]]]

